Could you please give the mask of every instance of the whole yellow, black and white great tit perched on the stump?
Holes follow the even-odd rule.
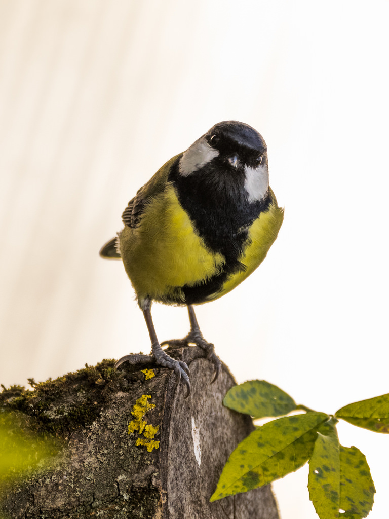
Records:
[[[153,361],[183,380],[190,393],[190,371],[162,346],[200,346],[221,363],[207,342],[193,305],[214,301],[241,283],[265,259],[279,233],[284,210],[269,185],[267,146],[253,127],[218,122],[186,151],[168,160],[141,187],[122,213],[123,229],[100,250],[122,260],[143,311],[151,355],[130,354],[123,362]],[[159,342],[152,302],[187,306],[190,332]]]

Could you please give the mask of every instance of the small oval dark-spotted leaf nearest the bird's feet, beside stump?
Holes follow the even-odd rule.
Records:
[[[254,418],[286,415],[296,409],[293,398],[266,380],[248,380],[231,388],[223,403]]]

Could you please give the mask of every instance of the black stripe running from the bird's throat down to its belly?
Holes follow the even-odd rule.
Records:
[[[220,171],[212,164],[196,172],[179,174],[177,158],[171,168],[169,181],[173,182],[178,201],[189,215],[206,247],[225,257],[223,270],[197,285],[184,285],[187,304],[204,303],[220,291],[227,277],[244,269],[239,261],[247,241],[248,229],[261,212],[268,211],[271,195],[249,203],[245,197],[244,172]]]

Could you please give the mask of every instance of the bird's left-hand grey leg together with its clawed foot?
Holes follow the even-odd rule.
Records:
[[[174,371],[174,373],[178,377],[177,384],[179,383],[181,377],[183,377],[184,383],[186,384],[186,387],[187,387],[187,394],[186,394],[185,398],[188,398],[189,393],[190,393],[190,381],[189,381],[190,372],[189,372],[189,368],[188,368],[187,364],[183,361],[178,361],[178,360],[172,359],[161,348],[161,345],[158,342],[154,323],[152,322],[152,319],[151,319],[151,311],[150,311],[149,306],[147,306],[143,310],[143,315],[145,316],[148,333],[150,335],[152,355],[140,355],[140,354],[126,355],[117,361],[117,363],[115,364],[115,367],[119,367],[120,364],[122,364],[123,362],[126,362],[126,361],[129,361],[131,364],[137,364],[137,362],[136,362],[137,360],[138,360],[138,362],[141,362],[141,363],[155,361],[155,363],[157,365],[159,365],[161,367],[168,367],[170,370]]]

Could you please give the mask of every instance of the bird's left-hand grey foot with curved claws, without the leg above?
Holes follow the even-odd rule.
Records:
[[[186,362],[172,359],[167,353],[165,353],[161,346],[158,343],[152,345],[152,355],[143,355],[141,353],[131,353],[130,355],[124,355],[121,357],[116,364],[115,368],[118,368],[124,362],[129,362],[130,364],[157,364],[161,367],[168,367],[170,370],[173,370],[177,375],[177,385],[181,377],[183,378],[184,384],[187,388],[186,397],[189,397],[190,394],[190,371],[186,364]]]

